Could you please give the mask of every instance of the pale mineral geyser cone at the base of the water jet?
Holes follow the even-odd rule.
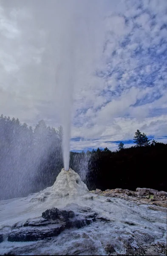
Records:
[[[80,176],[71,168],[65,171],[63,168],[53,185],[54,191],[61,197],[79,196],[88,192],[85,183],[82,182]]]

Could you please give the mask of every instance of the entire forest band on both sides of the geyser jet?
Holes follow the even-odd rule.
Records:
[[[33,129],[19,119],[0,116],[0,200],[23,197],[52,186],[63,168],[62,127],[40,120]],[[89,190],[147,187],[167,191],[167,144],[139,130],[134,146],[70,153],[70,167]]]

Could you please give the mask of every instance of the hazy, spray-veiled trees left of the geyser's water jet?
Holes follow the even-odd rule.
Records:
[[[62,128],[56,131],[44,120],[33,129],[1,115],[0,199],[25,196],[51,183],[63,166],[61,139]]]

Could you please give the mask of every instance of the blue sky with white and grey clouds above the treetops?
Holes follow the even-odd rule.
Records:
[[[167,0],[1,0],[0,113],[71,150],[167,143]]]

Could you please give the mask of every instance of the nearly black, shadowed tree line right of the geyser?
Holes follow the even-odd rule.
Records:
[[[119,151],[97,149],[91,154],[87,177],[90,190],[147,187],[167,191],[167,144],[155,140],[147,146]]]

